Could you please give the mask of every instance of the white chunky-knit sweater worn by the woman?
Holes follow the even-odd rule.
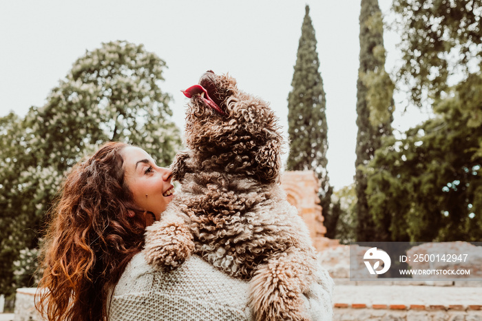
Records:
[[[322,284],[306,297],[313,320],[333,318],[333,280],[319,269]],[[163,273],[148,265],[140,252],[127,265],[114,289],[109,320],[253,320],[248,282],[232,278],[198,256]]]

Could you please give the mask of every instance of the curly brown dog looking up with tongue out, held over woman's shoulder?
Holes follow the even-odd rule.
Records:
[[[280,187],[282,136],[269,105],[235,79],[206,72],[189,87],[174,179],[181,189],[147,229],[146,258],[162,269],[190,253],[249,280],[256,320],[308,320],[303,293],[317,259],[306,225]]]

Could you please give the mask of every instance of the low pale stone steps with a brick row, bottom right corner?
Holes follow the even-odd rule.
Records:
[[[337,284],[333,302],[336,321],[482,321],[482,287]]]

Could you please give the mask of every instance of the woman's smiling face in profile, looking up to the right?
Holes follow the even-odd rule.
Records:
[[[158,167],[154,159],[139,147],[128,146],[122,149],[125,183],[134,195],[134,202],[156,216],[166,209],[174,196],[174,186],[171,185],[170,169]],[[149,218],[146,218],[149,225]]]

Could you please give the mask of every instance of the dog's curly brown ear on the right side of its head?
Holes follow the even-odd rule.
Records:
[[[257,163],[256,176],[262,183],[280,183],[282,138],[275,134],[266,144],[262,145],[255,156]]]

